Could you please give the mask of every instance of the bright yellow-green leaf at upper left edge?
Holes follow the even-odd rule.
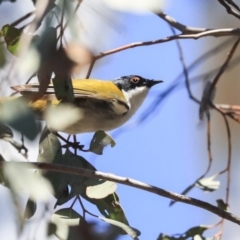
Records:
[[[7,44],[7,49],[10,53],[17,56],[19,51],[19,40],[22,34],[22,29],[15,28],[9,24],[1,29],[1,35]]]

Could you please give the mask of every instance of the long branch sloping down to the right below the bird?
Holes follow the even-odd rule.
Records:
[[[29,167],[29,163],[25,162],[0,162],[0,169],[3,168],[4,164],[19,164],[19,165],[26,165],[26,167]],[[67,167],[64,165],[59,165],[59,164],[51,164],[51,163],[35,163],[31,162],[32,168],[34,169],[44,169],[48,171],[54,171],[54,172],[62,172],[62,173],[70,173],[70,174],[75,174],[75,175],[80,175],[80,176],[85,176],[89,178],[97,178],[97,179],[104,179],[104,180],[109,180],[117,183],[121,183],[124,185],[128,185],[131,187],[135,187],[138,189],[142,189],[147,192],[155,193],[159,196],[166,197],[178,202],[183,202],[186,204],[190,204],[202,209],[205,209],[209,212],[212,212],[224,219],[227,219],[231,222],[237,223],[240,225],[240,218],[230,212],[224,211],[210,203],[198,200],[196,198],[190,198],[181,194],[173,193],[166,191],[162,188],[146,184],[144,182],[140,182],[131,178],[127,177],[121,177],[121,176],[116,176],[113,174],[109,173],[103,173],[103,172],[98,172],[98,171],[92,171],[92,170],[87,170],[84,168],[76,168],[76,167]]]

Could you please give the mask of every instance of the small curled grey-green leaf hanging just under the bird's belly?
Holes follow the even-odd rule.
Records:
[[[91,140],[89,151],[102,155],[103,148],[109,144],[111,147],[116,145],[115,141],[106,132],[99,130],[95,132]]]

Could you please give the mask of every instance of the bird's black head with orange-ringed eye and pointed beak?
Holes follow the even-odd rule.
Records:
[[[123,76],[113,80],[113,82],[124,91],[129,91],[138,87],[151,88],[155,84],[163,82],[162,80],[150,80],[137,75]]]

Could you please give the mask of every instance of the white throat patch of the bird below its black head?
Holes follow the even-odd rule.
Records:
[[[125,98],[128,101],[128,105],[130,108],[127,114],[129,115],[129,117],[131,117],[142,105],[143,101],[145,100],[148,94],[149,88],[146,86],[142,86],[136,87],[135,89],[131,89],[127,92],[124,90],[122,91]]]

